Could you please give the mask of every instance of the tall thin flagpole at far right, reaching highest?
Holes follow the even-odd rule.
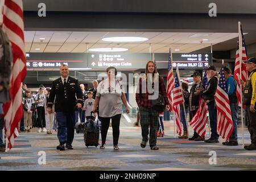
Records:
[[[239,69],[240,69],[240,79],[242,78],[242,32],[241,32],[241,22],[238,22],[238,40],[239,40]],[[243,138],[243,102],[242,102],[242,82],[240,81],[240,96],[241,96],[241,122],[242,122],[242,147],[245,147],[245,141]]]

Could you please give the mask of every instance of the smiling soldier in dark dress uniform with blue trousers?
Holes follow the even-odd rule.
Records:
[[[48,112],[52,112],[53,101],[55,103],[56,119],[58,122],[59,146],[57,150],[73,149],[72,142],[75,134],[75,107],[82,107],[82,91],[78,80],[68,76],[68,66],[61,65],[61,77],[52,82],[51,93],[48,100]]]

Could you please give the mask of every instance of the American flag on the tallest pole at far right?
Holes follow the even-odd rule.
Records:
[[[237,40],[237,52],[236,52],[236,63],[235,63],[235,68],[234,68],[234,78],[236,79],[237,83],[240,82],[240,78],[242,79],[243,82],[246,82],[247,80],[247,71],[245,68],[245,63],[243,61],[247,60],[247,50],[246,50],[246,45],[245,45],[245,38],[243,38],[243,31],[242,31],[242,25],[240,24],[240,36],[238,36]],[[242,47],[240,48],[239,42],[240,40],[242,41]],[[240,54],[239,51],[242,49],[242,60],[241,60],[241,72],[242,76],[240,76]],[[240,94],[240,84],[237,84],[237,100],[238,100],[238,105],[241,106],[241,94]]]

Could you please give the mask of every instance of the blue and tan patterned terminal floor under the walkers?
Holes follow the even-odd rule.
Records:
[[[56,133],[20,133],[12,150],[0,152],[0,170],[256,170],[256,151],[243,150],[241,129],[239,146],[222,146],[221,140],[207,144],[174,138],[172,123],[165,122],[165,126],[166,135],[158,138],[159,151],[140,147],[140,127],[121,127],[119,151],[113,150],[111,128],[104,150],[86,148],[82,134],[75,134],[74,150],[59,151]],[[249,144],[249,133],[244,131],[245,143]],[[42,151],[46,164],[40,165]],[[210,151],[216,152],[217,164],[209,164]]]

